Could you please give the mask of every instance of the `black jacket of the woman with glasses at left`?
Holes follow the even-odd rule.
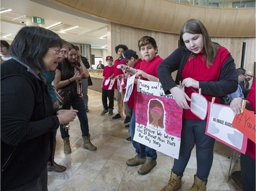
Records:
[[[46,168],[50,132],[59,127],[46,84],[14,59],[1,64],[1,190],[37,179]]]

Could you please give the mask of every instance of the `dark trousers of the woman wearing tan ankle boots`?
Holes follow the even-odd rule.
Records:
[[[67,103],[63,105],[62,109],[70,109],[70,106],[72,106],[73,109],[78,110],[77,117],[80,121],[80,127],[82,131],[82,136],[88,136],[89,135],[89,125],[88,125],[88,118],[87,113],[85,111],[85,104],[83,102],[83,98],[76,96],[74,97],[70,103]],[[70,126],[72,128],[72,126]],[[63,124],[60,125],[60,131],[61,131],[61,138],[64,139],[66,137],[70,137],[68,134],[68,129],[63,128]]]

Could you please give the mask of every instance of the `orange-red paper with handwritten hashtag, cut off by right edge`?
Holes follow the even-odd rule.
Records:
[[[255,143],[255,114],[252,111],[244,109],[242,114],[236,114],[232,126],[236,127],[236,129]]]

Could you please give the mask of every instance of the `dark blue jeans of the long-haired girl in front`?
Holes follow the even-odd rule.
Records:
[[[197,177],[203,181],[207,181],[212,168],[215,139],[205,135],[205,126],[206,121],[183,120],[180,156],[179,159],[174,160],[172,169],[176,175],[183,175],[191,151],[196,145]]]

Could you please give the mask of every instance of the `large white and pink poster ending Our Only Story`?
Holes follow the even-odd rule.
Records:
[[[182,131],[182,108],[166,95],[158,82],[139,80],[134,141],[178,158]]]

